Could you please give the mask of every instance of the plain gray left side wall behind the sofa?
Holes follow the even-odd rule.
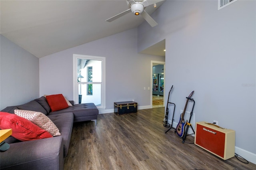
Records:
[[[1,35],[0,110],[39,97],[39,59]]]

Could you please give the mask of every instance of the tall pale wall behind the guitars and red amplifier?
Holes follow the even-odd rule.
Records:
[[[256,163],[256,1],[236,1],[221,10],[217,4],[164,2],[152,15],[158,26],[138,28],[138,49],[166,39],[165,87],[174,85],[176,123],[194,90],[196,122],[216,120],[235,130],[236,152],[245,150]]]

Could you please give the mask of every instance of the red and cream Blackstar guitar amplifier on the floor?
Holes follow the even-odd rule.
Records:
[[[195,144],[208,152],[227,160],[235,156],[235,131],[197,122]]]

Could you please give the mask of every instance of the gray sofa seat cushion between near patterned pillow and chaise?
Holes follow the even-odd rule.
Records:
[[[71,139],[74,115],[73,113],[60,113],[57,115],[48,115],[49,119],[60,130],[63,137],[64,157],[68,154],[68,147]]]

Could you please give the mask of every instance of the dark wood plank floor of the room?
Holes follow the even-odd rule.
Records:
[[[235,157],[222,160],[163,126],[164,107],[98,115],[75,123],[64,170],[255,170]]]

